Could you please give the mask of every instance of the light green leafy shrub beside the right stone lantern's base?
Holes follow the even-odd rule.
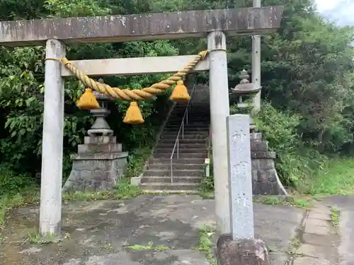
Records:
[[[301,141],[297,128],[301,117],[275,109],[266,102],[253,117],[270,150],[277,153],[275,165],[282,183],[308,192],[309,181],[324,169],[326,156],[321,155],[312,143]]]

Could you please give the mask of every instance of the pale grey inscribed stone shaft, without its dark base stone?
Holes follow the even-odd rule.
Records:
[[[234,240],[254,237],[249,120],[246,114],[227,117],[230,223]]]

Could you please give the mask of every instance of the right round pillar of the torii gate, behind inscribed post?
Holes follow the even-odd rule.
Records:
[[[229,232],[231,226],[226,118],[230,114],[230,107],[225,34],[222,31],[208,34],[207,49],[212,51],[209,55],[209,90],[215,212],[219,232]]]

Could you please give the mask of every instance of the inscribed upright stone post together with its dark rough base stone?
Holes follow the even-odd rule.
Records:
[[[219,265],[269,265],[265,242],[254,239],[249,115],[227,117],[231,234],[217,240]]]

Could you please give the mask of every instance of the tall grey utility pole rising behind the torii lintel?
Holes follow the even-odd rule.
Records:
[[[253,7],[261,7],[261,0],[253,0]],[[252,36],[252,83],[261,88],[261,36]],[[261,90],[253,97],[253,111],[261,108]]]

